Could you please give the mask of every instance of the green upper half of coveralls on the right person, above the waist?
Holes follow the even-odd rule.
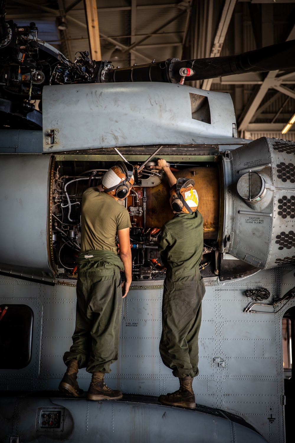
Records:
[[[199,211],[176,214],[166,221],[158,250],[168,273],[198,268],[203,254],[203,217]]]

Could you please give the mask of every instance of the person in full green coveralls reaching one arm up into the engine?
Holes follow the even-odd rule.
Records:
[[[197,210],[194,180],[178,179],[163,159],[157,161],[168,179],[175,216],[162,228],[158,249],[166,278],[162,303],[160,354],[179,378],[180,389],[159,397],[160,403],[195,408],[193,378],[198,375],[198,336],[205,294],[199,263],[203,254],[203,217]]]

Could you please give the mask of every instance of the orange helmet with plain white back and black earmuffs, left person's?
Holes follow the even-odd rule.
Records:
[[[120,200],[125,198],[134,183],[134,167],[130,163],[118,161],[104,175],[104,192],[115,195]]]

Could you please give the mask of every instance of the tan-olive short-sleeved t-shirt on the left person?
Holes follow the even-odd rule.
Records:
[[[126,208],[111,195],[92,187],[82,196],[81,252],[112,251],[118,254],[116,233],[131,228]]]

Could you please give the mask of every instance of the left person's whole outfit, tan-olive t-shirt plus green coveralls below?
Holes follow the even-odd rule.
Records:
[[[92,187],[82,197],[81,252],[77,259],[77,308],[73,345],[64,354],[65,365],[75,359],[79,369],[110,373],[118,360],[122,309],[116,234],[131,227],[126,208],[115,198]]]

